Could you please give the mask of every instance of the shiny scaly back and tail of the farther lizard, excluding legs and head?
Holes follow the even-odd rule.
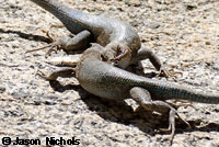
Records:
[[[92,33],[93,39],[106,46],[113,42],[126,43],[131,49],[140,48],[140,39],[132,27],[117,19],[93,15],[61,5],[56,0],[31,0],[58,18],[72,33],[84,30]]]

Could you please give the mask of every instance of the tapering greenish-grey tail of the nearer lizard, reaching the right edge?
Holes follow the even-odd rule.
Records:
[[[158,99],[176,99],[200,103],[219,104],[219,94],[196,91],[188,87],[183,87],[168,81],[160,82],[151,79],[145,81],[143,84],[143,87],[149,90],[152,97]]]

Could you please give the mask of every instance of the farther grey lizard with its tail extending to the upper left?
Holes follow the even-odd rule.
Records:
[[[85,49],[90,43],[97,43],[106,50],[103,53],[105,60],[112,59],[112,63],[123,69],[148,58],[158,71],[166,76],[160,59],[151,49],[141,46],[140,37],[130,24],[115,18],[74,10],[56,0],[31,1],[54,14],[70,33],[76,34],[73,37],[57,39],[51,47],[59,45],[65,50],[74,50]]]

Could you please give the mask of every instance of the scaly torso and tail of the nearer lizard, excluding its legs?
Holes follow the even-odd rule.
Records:
[[[88,49],[81,57],[76,70],[81,87],[90,93],[106,99],[127,99],[129,90],[141,87],[149,91],[153,100],[188,100],[200,103],[218,104],[219,97],[197,92],[189,88],[168,81],[159,81],[138,76],[102,61],[95,47]]]

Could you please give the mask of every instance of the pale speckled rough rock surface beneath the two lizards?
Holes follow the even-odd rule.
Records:
[[[217,0],[59,0],[93,14],[130,23],[142,45],[152,48],[165,68],[182,71],[181,84],[219,91],[219,2]],[[78,81],[59,79],[62,88],[35,77],[57,67],[45,63],[45,50],[25,54],[69,34],[50,13],[28,0],[0,0],[0,146],[2,138],[79,139],[79,146],[168,147],[168,116],[134,112],[131,106],[87,94]],[[60,52],[61,53],[61,52]],[[59,55],[59,53],[58,53]],[[58,56],[57,55],[57,56]],[[146,72],[153,71],[143,60]],[[158,78],[158,77],[153,77]],[[165,78],[159,78],[166,80]],[[172,78],[168,80],[173,81]],[[131,102],[130,102],[131,103]],[[219,147],[219,105],[194,103],[177,111],[173,147]],[[12,146],[12,145],[9,145]]]

